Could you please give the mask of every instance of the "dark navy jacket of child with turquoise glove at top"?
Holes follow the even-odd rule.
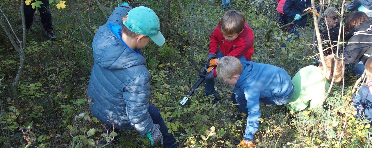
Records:
[[[304,10],[311,7],[311,0],[286,0],[283,6],[284,14],[288,17],[288,23],[294,20],[296,14],[303,14]],[[300,20],[295,21],[295,24],[291,25],[291,28],[302,28],[305,26],[307,21],[307,15],[302,16]]]

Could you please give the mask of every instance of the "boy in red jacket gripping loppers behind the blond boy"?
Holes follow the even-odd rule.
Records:
[[[209,67],[211,60],[218,64],[219,59],[224,56],[234,56],[241,61],[250,61],[254,51],[253,41],[253,31],[245,22],[243,14],[236,10],[227,11],[219,21],[217,28],[211,33],[211,44],[205,69]],[[215,70],[203,75],[203,77],[212,78],[204,80],[205,94],[212,97],[212,104],[219,102],[214,88],[213,78],[216,76]]]

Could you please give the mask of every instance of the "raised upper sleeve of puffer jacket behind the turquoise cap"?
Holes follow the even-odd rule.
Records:
[[[125,16],[126,13],[131,9],[132,7],[129,5],[116,7],[116,9],[112,11],[111,15],[109,16],[109,19],[106,21],[106,24],[112,23],[112,24],[122,25],[123,16]]]

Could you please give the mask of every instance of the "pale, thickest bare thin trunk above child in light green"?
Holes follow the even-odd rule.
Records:
[[[314,20],[314,29],[315,29],[315,33],[317,35],[320,61],[323,65],[323,74],[324,74],[324,72],[327,71],[327,65],[325,65],[325,61],[324,61],[323,46],[322,46],[322,42],[321,42],[321,38],[320,38],[320,31],[319,31],[319,26],[318,26],[318,22],[317,22],[317,14],[315,13],[315,1],[314,0],[311,0],[311,7],[312,7],[312,10],[311,10],[312,11],[312,17],[313,17],[313,20]],[[320,7],[320,5],[318,7]],[[324,78],[325,78],[325,74],[324,74]]]

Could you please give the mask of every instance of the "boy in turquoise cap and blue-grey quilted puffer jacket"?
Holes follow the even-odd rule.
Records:
[[[132,9],[127,3],[116,7],[93,39],[88,99],[93,115],[109,125],[109,132],[135,129],[151,145],[160,142],[176,148],[176,139],[168,133],[159,110],[149,104],[150,74],[139,50],[150,39],[158,46],[164,44],[159,28],[159,19],[150,8]]]

